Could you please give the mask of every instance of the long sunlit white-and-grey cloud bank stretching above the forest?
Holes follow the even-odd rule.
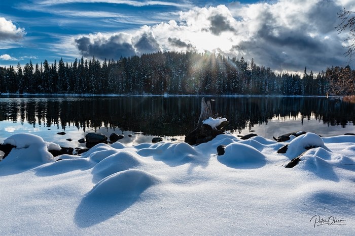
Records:
[[[232,3],[180,11],[179,20],[142,26],[129,33],[81,35],[83,56],[114,58],[159,50],[214,52],[244,57],[273,70],[315,72],[346,65],[344,36],[338,35],[336,1],[279,0]]]

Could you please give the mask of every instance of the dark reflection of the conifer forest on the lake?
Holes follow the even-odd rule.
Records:
[[[241,133],[279,120],[317,120],[319,125],[354,125],[355,105],[339,99],[234,97],[207,98],[212,110],[226,117],[230,131]],[[194,129],[200,97],[1,98],[1,121],[33,127],[76,127],[84,131],[105,127],[143,131],[151,135],[185,135]],[[322,122],[321,122],[322,121]],[[293,131],[293,130],[291,130]]]

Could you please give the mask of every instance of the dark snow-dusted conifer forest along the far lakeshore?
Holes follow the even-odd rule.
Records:
[[[0,93],[348,96],[355,94],[355,70],[276,73],[243,57],[164,51],[102,63],[82,57],[0,67]]]

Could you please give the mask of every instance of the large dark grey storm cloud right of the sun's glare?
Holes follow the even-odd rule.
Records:
[[[307,66],[308,71],[319,72],[332,65],[344,66],[345,51],[335,30],[339,10],[334,2],[318,2],[305,15],[292,16],[290,27],[278,23],[277,14],[264,9],[254,37],[242,40],[233,50],[278,71],[302,71]]]

